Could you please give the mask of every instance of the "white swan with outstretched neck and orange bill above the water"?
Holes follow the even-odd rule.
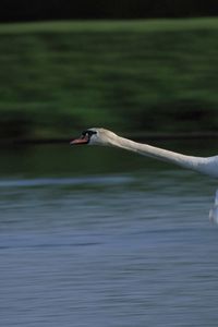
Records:
[[[71,145],[102,145],[123,148],[143,156],[156,158],[162,161],[172,162],[182,168],[191,169],[203,174],[218,178],[218,156],[195,157],[186,156],[164,148],[150,146],[121,137],[105,129],[87,129],[82,132],[78,138],[71,141]],[[209,211],[209,219],[218,222],[218,192],[215,196],[215,205]]]

